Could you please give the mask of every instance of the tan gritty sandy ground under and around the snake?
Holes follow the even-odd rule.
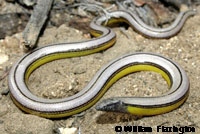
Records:
[[[200,7],[197,8],[200,12]],[[115,126],[134,125],[152,127],[192,126],[200,132],[200,14],[188,19],[181,32],[170,39],[147,39],[132,28],[122,33],[119,28],[117,42],[108,50],[84,57],[62,59],[47,63],[31,74],[30,90],[41,97],[62,98],[80,91],[93,75],[110,60],[130,52],[153,52],[179,63],[190,79],[190,95],[180,108],[157,116],[136,118],[133,115],[106,113],[95,110],[95,106],[78,116],[50,120],[26,114],[19,110],[8,95],[0,95],[1,134],[50,134],[60,127],[80,127],[81,134],[114,134]],[[9,60],[0,64],[0,76],[24,55],[18,38],[21,33],[0,41],[0,54]],[[50,43],[88,40],[82,32],[62,25],[46,29],[39,46]],[[0,81],[0,92],[6,94],[8,77]],[[157,96],[168,91],[165,80],[157,73],[138,72],[116,82],[100,100],[114,96]]]

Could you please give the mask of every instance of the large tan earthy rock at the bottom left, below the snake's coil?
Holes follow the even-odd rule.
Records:
[[[12,113],[7,115],[4,128],[9,134],[53,134],[53,121],[35,115]]]

